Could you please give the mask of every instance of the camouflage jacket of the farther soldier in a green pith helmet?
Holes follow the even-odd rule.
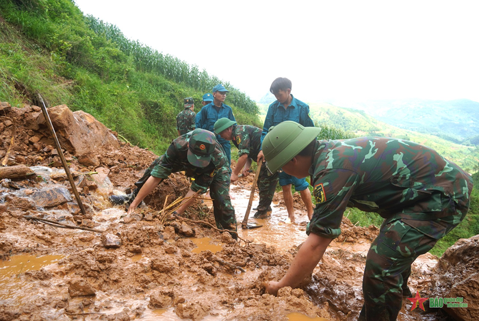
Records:
[[[250,125],[233,125],[233,144],[238,149],[238,157],[248,154],[255,162],[261,150],[262,129]]]

